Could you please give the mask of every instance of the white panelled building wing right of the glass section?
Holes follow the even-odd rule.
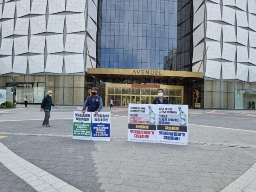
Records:
[[[256,102],[256,1],[194,0],[193,68],[204,73],[203,108]]]

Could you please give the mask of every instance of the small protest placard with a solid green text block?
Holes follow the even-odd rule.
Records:
[[[74,111],[73,116],[73,139],[91,140],[92,113]]]

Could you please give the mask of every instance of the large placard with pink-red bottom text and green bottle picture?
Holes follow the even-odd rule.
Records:
[[[129,104],[128,141],[156,143],[157,105]]]

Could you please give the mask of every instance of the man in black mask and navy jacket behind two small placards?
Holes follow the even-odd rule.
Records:
[[[82,113],[85,113],[85,109],[87,108],[87,111],[89,112],[95,112],[95,114],[98,114],[100,110],[103,107],[102,98],[97,95],[98,88],[93,87],[92,88],[92,95],[88,96],[84,102]]]

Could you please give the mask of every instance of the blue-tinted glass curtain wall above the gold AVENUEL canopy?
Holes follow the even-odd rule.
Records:
[[[99,0],[98,21],[101,68],[190,70],[192,0]]]

